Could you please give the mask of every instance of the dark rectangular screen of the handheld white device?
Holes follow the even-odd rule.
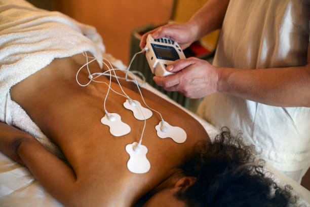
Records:
[[[157,44],[151,44],[151,46],[158,59],[165,59],[165,60],[172,60],[172,61],[180,59],[178,53],[175,51],[173,47],[157,45]]]

